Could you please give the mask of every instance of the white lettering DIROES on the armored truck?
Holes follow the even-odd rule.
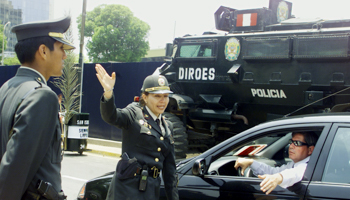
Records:
[[[179,80],[214,80],[215,68],[179,68]]]

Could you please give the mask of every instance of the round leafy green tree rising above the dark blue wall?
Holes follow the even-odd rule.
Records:
[[[78,28],[81,29],[78,17]],[[136,62],[147,54],[150,26],[123,5],[100,5],[86,13],[84,36],[92,62]]]

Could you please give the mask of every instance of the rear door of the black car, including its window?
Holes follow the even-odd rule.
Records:
[[[334,124],[307,188],[306,199],[350,198],[350,125]]]

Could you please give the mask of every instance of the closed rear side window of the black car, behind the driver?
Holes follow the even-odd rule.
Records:
[[[350,128],[339,128],[334,137],[326,167],[322,176],[324,182],[350,183]]]

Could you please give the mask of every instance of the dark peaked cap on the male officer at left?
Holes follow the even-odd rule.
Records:
[[[16,33],[17,40],[25,40],[35,37],[50,36],[63,43],[65,50],[75,49],[72,43],[63,38],[63,33],[70,26],[70,16],[55,20],[29,22],[12,27],[11,31]]]

